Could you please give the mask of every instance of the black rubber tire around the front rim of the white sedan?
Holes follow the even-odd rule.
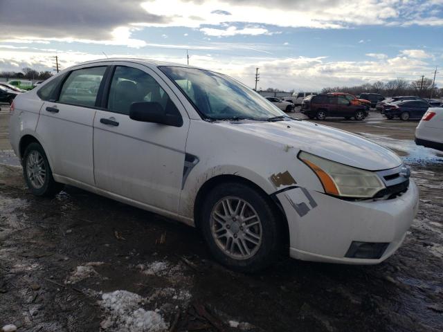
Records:
[[[262,239],[260,245],[256,246],[256,252],[251,257],[244,259],[230,257],[222,248],[219,248],[213,236],[213,228],[211,226],[213,210],[215,210],[219,202],[228,197],[237,197],[246,201],[260,218]],[[229,223],[231,225],[237,223],[237,232],[241,232],[238,230],[241,221],[232,219]],[[210,191],[202,205],[200,228],[206,244],[215,259],[220,264],[243,273],[253,273],[273,264],[277,260],[282,246],[284,246],[282,244],[284,243],[282,238],[282,221],[272,201],[264,194],[243,183],[221,183]],[[234,225],[232,228],[234,228]],[[246,228],[241,230],[246,230]],[[239,246],[236,246],[239,249]]]

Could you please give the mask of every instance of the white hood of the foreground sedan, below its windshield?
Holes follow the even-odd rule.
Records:
[[[308,121],[240,121],[218,122],[235,131],[257,136],[262,140],[280,143],[282,151],[300,149],[337,163],[371,171],[401,165],[401,159],[390,149],[361,136]],[[260,144],[258,143],[261,140]]]

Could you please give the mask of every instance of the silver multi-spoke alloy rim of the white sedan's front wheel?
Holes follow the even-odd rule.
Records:
[[[262,222],[254,208],[239,197],[218,201],[210,214],[210,230],[215,243],[233,259],[248,259],[262,244]]]

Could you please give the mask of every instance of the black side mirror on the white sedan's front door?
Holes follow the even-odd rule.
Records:
[[[129,108],[129,118],[141,122],[166,124],[181,127],[183,120],[180,116],[167,114],[158,102],[133,102]]]

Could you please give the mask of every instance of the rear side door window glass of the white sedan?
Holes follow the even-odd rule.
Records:
[[[60,92],[59,102],[93,107],[106,66],[82,68],[71,72]]]

